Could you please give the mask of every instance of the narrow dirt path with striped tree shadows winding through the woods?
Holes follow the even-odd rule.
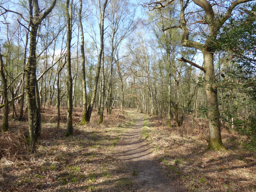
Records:
[[[137,116],[137,122],[126,129],[117,146],[119,158],[131,172],[136,192],[185,192],[181,186],[173,183],[164,175],[164,170],[158,166],[153,150],[150,149],[141,135],[144,126],[143,116],[135,110],[127,111]]]

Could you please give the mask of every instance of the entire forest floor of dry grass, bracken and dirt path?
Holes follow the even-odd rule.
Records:
[[[74,136],[65,137],[65,111],[57,129],[56,108],[42,108],[36,154],[28,153],[26,118],[0,133],[0,191],[256,192],[256,154],[234,131],[222,128],[228,150],[216,152],[206,149],[205,119],[193,127],[188,116],[176,128],[162,116],[114,109],[103,124],[93,112],[83,126],[74,108]]]

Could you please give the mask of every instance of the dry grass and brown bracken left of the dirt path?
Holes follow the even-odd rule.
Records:
[[[65,122],[65,108],[61,109]],[[81,108],[74,108],[74,136],[65,137],[65,123],[56,128],[55,108],[42,109],[42,133],[36,154],[28,153],[26,137],[28,124],[11,121],[13,127],[0,135],[0,191],[124,191],[129,181],[120,170],[122,164],[113,164],[114,142],[120,136],[117,124],[131,121],[120,115],[104,114],[99,125],[96,112],[91,122],[79,125]]]

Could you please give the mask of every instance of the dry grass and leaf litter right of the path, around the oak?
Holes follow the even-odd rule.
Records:
[[[160,116],[148,117],[148,144],[154,148],[166,174],[198,192],[255,192],[256,154],[245,150],[244,137],[222,128],[222,141],[227,151],[207,150],[208,122],[197,119],[193,128],[188,116],[181,127],[166,126]]]

